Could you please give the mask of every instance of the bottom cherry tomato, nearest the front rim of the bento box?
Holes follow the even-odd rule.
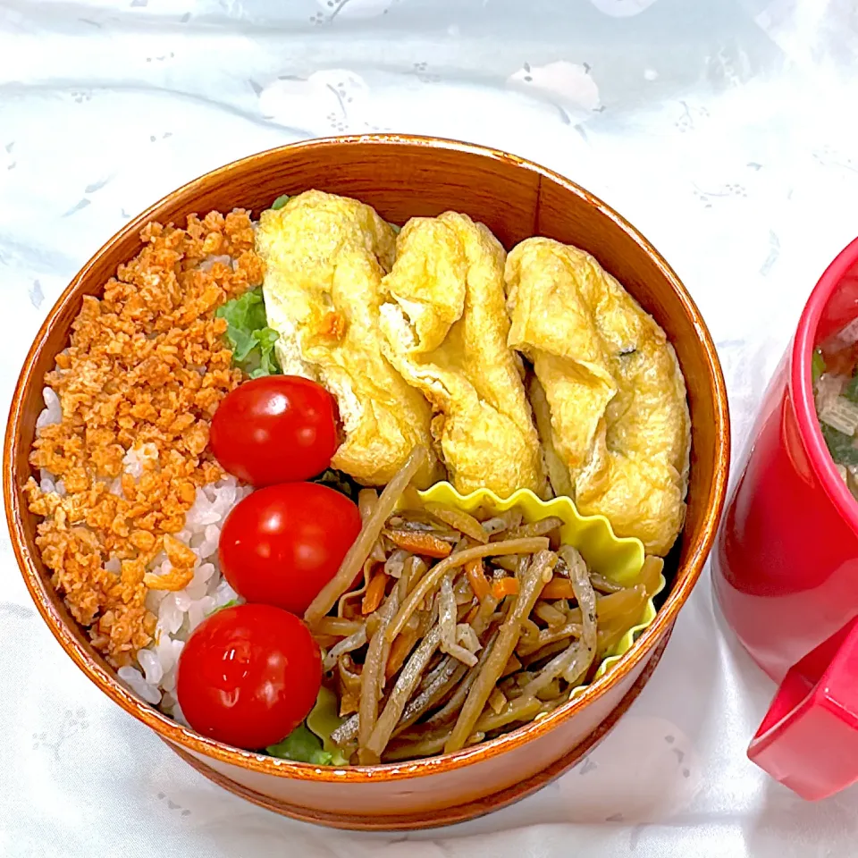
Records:
[[[271,605],[236,605],[190,635],[176,696],[198,733],[254,751],[307,717],[321,683],[322,655],[299,618]]]

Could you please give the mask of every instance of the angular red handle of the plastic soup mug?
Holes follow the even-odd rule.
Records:
[[[789,669],[748,757],[810,800],[858,781],[858,618]]]

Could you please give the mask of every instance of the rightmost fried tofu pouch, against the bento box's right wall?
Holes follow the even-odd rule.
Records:
[[[543,238],[506,265],[509,346],[530,386],[555,492],[664,555],[685,519],[691,420],[664,332],[593,257]]]

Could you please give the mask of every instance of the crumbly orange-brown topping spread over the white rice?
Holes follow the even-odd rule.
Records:
[[[24,487],[43,517],[36,543],[53,584],[116,666],[152,639],[147,589],[179,590],[193,576],[193,552],[171,534],[197,487],[222,475],[206,451],[209,425],[241,380],[214,311],[264,273],[245,211],[192,214],[183,230],[150,223],[141,239],[104,296],[84,297],[69,346],[45,376],[62,420],[41,428],[29,460],[64,494],[32,479]],[[139,478],[123,467],[129,450],[151,454]],[[147,573],[161,551],[172,571]]]

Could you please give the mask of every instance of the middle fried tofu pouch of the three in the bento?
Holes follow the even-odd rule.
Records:
[[[383,279],[381,309],[392,363],[437,411],[433,435],[450,482],[501,497],[546,489],[520,363],[507,346],[505,256],[465,214],[413,218]]]

